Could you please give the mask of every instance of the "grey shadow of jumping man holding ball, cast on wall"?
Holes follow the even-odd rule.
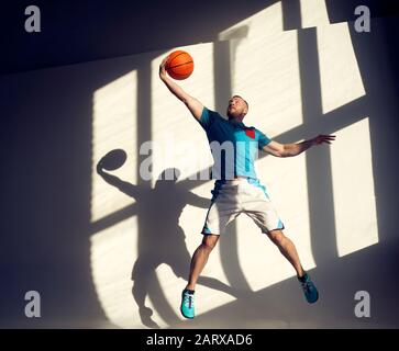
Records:
[[[145,305],[148,296],[157,313],[167,322],[178,319],[168,310],[168,304],[156,283],[155,271],[165,263],[177,278],[188,278],[191,256],[186,247],[185,231],[179,226],[179,217],[186,205],[208,208],[210,200],[198,196],[177,183],[179,170],[165,169],[154,188],[135,185],[106,172],[120,168],[126,159],[125,151],[115,149],[108,152],[97,165],[97,172],[109,184],[136,200],[137,216],[141,220],[138,230],[137,259],[133,265],[133,297],[138,306],[143,325],[159,328],[152,319],[153,310]],[[162,231],[159,231],[162,228]],[[235,291],[217,279],[200,276],[199,284],[236,296]]]

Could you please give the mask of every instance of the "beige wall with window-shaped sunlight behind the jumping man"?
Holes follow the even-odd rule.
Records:
[[[203,271],[213,280],[197,287],[197,320],[180,317],[180,292],[201,240],[212,182],[186,180],[207,169],[211,158],[202,129],[157,78],[170,48],[2,80],[19,156],[12,172],[20,181],[33,172],[22,185],[12,182],[13,219],[26,224],[12,223],[14,237],[5,247],[13,249],[4,262],[9,258],[10,269],[24,272],[11,279],[13,292],[43,291],[49,302],[44,325],[143,328],[131,280],[140,258],[135,284],[153,310],[152,321],[163,328],[397,326],[390,308],[396,293],[383,275],[394,272],[398,241],[390,200],[378,192],[397,170],[389,176],[385,168],[389,147],[374,146],[392,145],[396,125],[388,121],[398,113],[390,67],[384,65],[389,61],[385,22],[375,20],[373,32],[361,36],[352,22],[330,25],[322,2],[301,3],[303,30],[282,31],[277,2],[226,29],[220,42],[182,47],[196,69],[181,87],[210,109],[224,109],[225,97],[242,94],[250,102],[246,124],[280,143],[336,135],[332,146],[295,158],[263,156],[256,163],[286,235],[320,286],[320,302],[304,303],[295,271],[241,216]],[[378,57],[364,56],[373,50]],[[157,146],[148,182],[138,177],[145,140]],[[115,148],[124,149],[128,160],[112,174],[138,185],[140,197],[96,173],[98,160]],[[156,177],[170,167],[181,171],[176,199],[165,202],[166,192],[153,192],[147,201]],[[201,205],[188,204],[181,214],[168,205],[189,202],[188,192],[203,197]],[[353,313],[354,294],[362,290],[373,301],[366,321]],[[9,312],[14,315],[12,307]]]

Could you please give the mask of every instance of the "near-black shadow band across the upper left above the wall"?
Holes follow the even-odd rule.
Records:
[[[24,10],[32,3],[4,2],[1,32],[8,55],[0,57],[0,73],[209,43],[276,1],[202,0],[188,8],[184,0],[37,0],[43,30],[34,34],[23,27]]]

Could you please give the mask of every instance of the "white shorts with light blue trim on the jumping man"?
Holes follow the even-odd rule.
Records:
[[[239,178],[217,181],[213,197],[208,210],[203,235],[221,235],[225,227],[240,214],[250,216],[262,233],[284,229],[284,224],[258,180]]]

